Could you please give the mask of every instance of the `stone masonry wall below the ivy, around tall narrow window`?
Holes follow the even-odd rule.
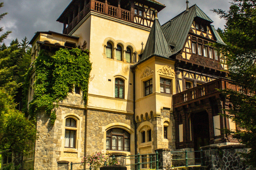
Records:
[[[57,162],[81,162],[84,157],[84,104],[82,95],[72,95],[59,103],[56,109],[57,119],[54,125],[49,115],[37,113],[37,135],[35,142],[34,169],[58,169]],[[74,117],[77,121],[76,146],[65,148],[65,120]]]

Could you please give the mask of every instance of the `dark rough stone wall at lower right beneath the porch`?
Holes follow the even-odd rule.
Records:
[[[244,163],[239,153],[246,153],[250,149],[244,145],[206,146],[203,149],[203,162],[209,170],[255,170]]]

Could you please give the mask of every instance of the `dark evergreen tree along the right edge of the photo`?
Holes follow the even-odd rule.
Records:
[[[233,103],[228,117],[239,127],[228,133],[251,148],[244,156],[256,167],[256,0],[233,0],[229,11],[214,12],[226,20],[222,38],[227,46],[220,46],[220,52],[226,56],[229,77],[241,87],[223,91]]]

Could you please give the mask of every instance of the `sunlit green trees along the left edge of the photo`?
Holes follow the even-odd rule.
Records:
[[[0,7],[3,3],[0,3]],[[0,14],[0,20],[7,13]],[[3,27],[0,28],[3,31]],[[9,35],[6,31],[0,36],[0,43]],[[22,48],[23,45],[23,48]],[[30,61],[27,40],[20,45],[18,39],[5,44],[0,50],[0,155],[15,152],[15,155],[28,151],[36,138],[35,125],[17,109],[15,100],[19,100],[22,91],[23,74],[29,68]]]

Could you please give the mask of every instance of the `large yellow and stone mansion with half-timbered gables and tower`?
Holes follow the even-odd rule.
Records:
[[[89,49],[93,64],[86,105],[74,87],[53,126],[37,113],[38,139],[23,169],[60,169],[95,151],[135,155],[236,143],[218,130],[236,128],[218,114],[230,103],[215,88],[232,87],[211,43],[225,43],[197,5],[161,26],[164,7],[155,0],[73,0],[57,20],[62,33],[35,34],[31,63],[40,49],[77,47]]]

